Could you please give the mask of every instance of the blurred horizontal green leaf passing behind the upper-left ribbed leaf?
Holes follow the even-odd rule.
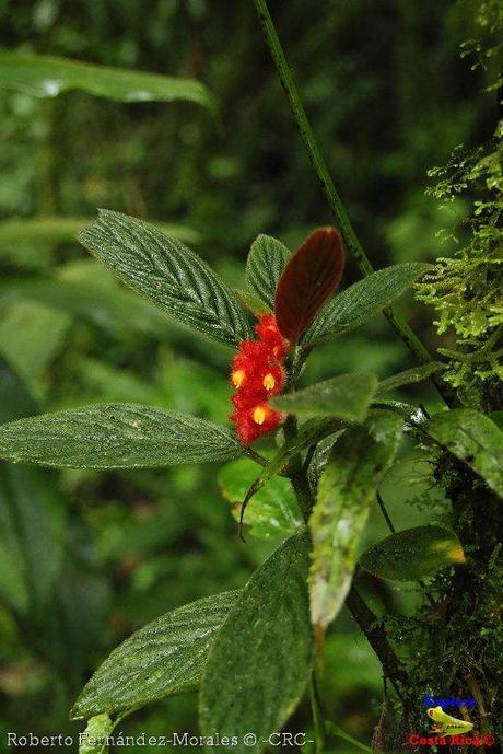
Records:
[[[32,217],[0,222],[0,246],[9,248],[16,243],[58,244],[77,241],[78,234],[94,222],[94,218]],[[166,235],[186,243],[198,243],[199,233],[167,222],[155,222]]]

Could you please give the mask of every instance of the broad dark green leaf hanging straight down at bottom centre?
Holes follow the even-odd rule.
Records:
[[[307,536],[286,540],[252,576],[214,640],[199,695],[201,732],[237,736],[236,754],[261,751],[304,693],[313,662],[307,569]],[[247,746],[250,731],[256,741]]]

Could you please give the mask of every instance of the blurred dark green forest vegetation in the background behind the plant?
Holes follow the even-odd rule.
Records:
[[[438,210],[424,196],[426,171],[458,144],[490,139],[496,119],[494,93],[482,92],[494,77],[460,57],[460,44],[480,34],[477,3],[271,5],[373,264],[449,254],[435,232],[468,208],[458,200]],[[212,114],[197,104],[120,104],[79,91],[44,100],[12,90],[1,77],[0,419],[131,401],[225,422],[230,352],[121,289],[73,236],[96,207],[174,224],[227,281],[242,286],[258,233],[294,248],[313,227],[330,223],[252,3],[4,0],[0,7],[0,44],[10,49],[196,78],[218,103]],[[349,262],[344,285],[356,278]],[[412,297],[401,305],[434,349],[431,313]],[[351,369],[386,376],[411,364],[381,316],[320,348],[305,380]],[[420,398],[431,407],[436,402],[426,387]],[[7,731],[81,730],[68,721],[69,708],[114,646],[177,605],[242,585],[271,549],[273,543],[237,538],[217,471],[1,466],[3,740]],[[411,448],[383,496],[397,526],[442,515],[429,469]],[[376,511],[365,544],[385,533]],[[411,588],[373,587],[377,611],[408,611],[417,599]],[[342,614],[327,640],[329,714],[369,741],[381,693],[378,664]],[[302,706],[289,729],[308,724]],[[196,698],[168,699],[120,729],[195,732]],[[348,746],[337,749],[336,741],[334,751]]]

